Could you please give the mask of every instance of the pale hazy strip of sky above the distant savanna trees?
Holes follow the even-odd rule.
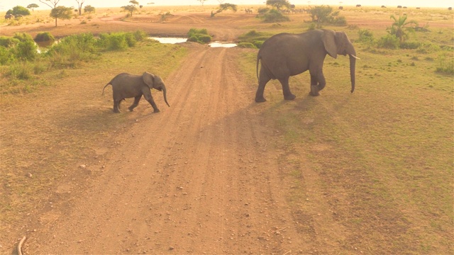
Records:
[[[54,1],[54,0],[52,0]],[[83,1],[83,0],[79,0]],[[137,1],[137,0],[136,0]],[[229,4],[264,4],[266,0],[224,0],[223,3]],[[200,2],[197,0],[139,0],[139,4],[143,6],[148,6],[154,3],[155,6],[169,6],[169,5],[192,5],[200,6]],[[307,5],[309,0],[289,0],[291,4],[296,5]],[[330,5],[338,6],[340,2],[343,6],[361,4],[362,6],[408,6],[408,7],[441,7],[448,8],[450,6],[454,7],[453,2],[450,0],[310,0],[311,5]],[[450,4],[451,3],[451,4]],[[40,8],[37,9],[50,9],[45,4],[41,3],[38,0],[0,0],[0,11],[8,11],[14,6],[28,6],[28,4],[38,4]],[[129,4],[129,0],[84,0],[84,6],[91,5],[96,7],[121,7]],[[207,0],[205,5],[218,5],[218,0]],[[57,4],[59,6],[77,6],[76,0],[60,0]]]

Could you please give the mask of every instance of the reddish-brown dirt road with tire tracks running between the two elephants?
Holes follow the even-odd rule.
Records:
[[[56,220],[29,250],[239,254],[307,245],[279,187],[270,129],[236,70],[239,51],[196,46],[167,78],[172,107],[146,115],[139,106],[142,117],[106,153],[103,174],[68,215],[49,212]]]

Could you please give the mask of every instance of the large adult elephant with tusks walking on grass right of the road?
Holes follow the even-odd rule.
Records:
[[[323,60],[326,54],[336,58],[338,54],[350,56],[351,92],[355,90],[355,48],[344,32],[333,30],[311,30],[301,34],[280,33],[263,42],[257,55],[258,89],[255,102],[265,102],[263,91],[270,79],[282,84],[285,100],[296,96],[289,88],[289,77],[309,70],[311,74],[311,96],[319,96],[325,85]],[[260,73],[258,70],[261,63]]]

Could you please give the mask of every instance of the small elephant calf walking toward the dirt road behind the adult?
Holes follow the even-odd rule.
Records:
[[[153,96],[151,96],[151,89],[157,89],[162,91],[164,94],[164,101],[167,103],[166,89],[164,81],[155,74],[144,72],[142,75],[135,74],[118,74],[114,79],[109,81],[108,85],[112,85],[113,97],[114,97],[114,113],[120,113],[120,102],[125,98],[134,98],[134,103],[129,106],[129,111],[134,111],[134,108],[138,106],[140,98],[145,98],[148,103],[153,107],[155,113],[159,113],[159,109],[156,106]],[[106,89],[104,86],[104,89]],[[102,93],[104,94],[104,89]],[[167,103],[169,106],[169,103]],[[170,107],[170,106],[169,106]]]

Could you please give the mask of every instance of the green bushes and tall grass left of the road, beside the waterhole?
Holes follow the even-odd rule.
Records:
[[[137,30],[123,33],[101,33],[94,38],[91,33],[70,35],[57,44],[40,49],[37,42],[53,42],[49,33],[38,33],[35,40],[26,33],[13,37],[0,36],[0,70],[7,79],[1,86],[1,94],[23,94],[48,84],[40,79],[50,69],[80,67],[99,59],[103,52],[124,51],[147,40],[148,35]],[[150,40],[150,42],[152,42]]]

